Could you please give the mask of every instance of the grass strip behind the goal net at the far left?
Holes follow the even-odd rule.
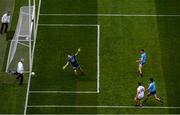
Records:
[[[22,114],[24,110],[24,100],[26,94],[26,78],[25,85],[18,86],[14,76],[6,74],[5,65],[9,50],[9,41],[15,31],[17,24],[19,8],[25,5],[26,0],[0,0],[0,14],[5,11],[11,12],[11,26],[7,34],[0,35],[0,114]]]

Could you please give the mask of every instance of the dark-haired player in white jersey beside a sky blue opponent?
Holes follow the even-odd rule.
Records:
[[[142,86],[141,82],[138,82],[137,93],[134,98],[136,106],[142,106],[141,100],[144,98],[144,92],[145,88]]]

